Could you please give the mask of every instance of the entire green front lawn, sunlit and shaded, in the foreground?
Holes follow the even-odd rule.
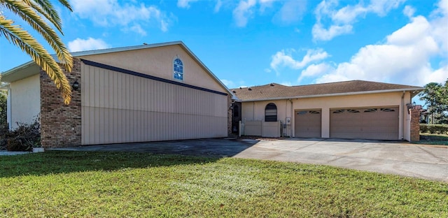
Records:
[[[448,184],[132,152],[0,157],[0,217],[448,217]]]

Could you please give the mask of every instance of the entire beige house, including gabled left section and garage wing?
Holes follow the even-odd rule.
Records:
[[[43,147],[221,138],[418,140],[422,87],[347,81],[232,89],[181,41],[73,52],[68,106],[34,61],[2,73],[8,123],[40,116]],[[416,112],[415,112],[416,111]]]

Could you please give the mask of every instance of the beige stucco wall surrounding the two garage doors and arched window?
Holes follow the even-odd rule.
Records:
[[[301,109],[321,109],[321,129],[322,138],[330,137],[330,109],[335,108],[363,108],[372,106],[398,106],[400,108],[399,136],[397,139],[409,138],[409,119],[407,116],[406,103],[411,102],[410,93],[388,92],[381,94],[359,94],[350,96],[328,96],[320,98],[291,99],[293,101],[293,111]],[[267,103],[275,103],[277,106],[277,119],[285,123],[286,117],[291,117],[291,125],[283,131],[290,136],[294,133],[294,114],[290,110],[288,100],[276,101],[253,101],[242,103],[242,121],[244,120],[264,120],[265,106]]]

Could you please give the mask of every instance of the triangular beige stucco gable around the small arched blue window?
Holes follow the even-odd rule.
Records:
[[[125,68],[130,71],[153,75],[167,80],[173,78],[173,61],[179,57],[183,61],[183,82],[218,92],[227,92],[207,73],[180,45],[158,48],[113,52],[108,54],[79,57],[101,64]],[[179,81],[179,80],[174,80]]]

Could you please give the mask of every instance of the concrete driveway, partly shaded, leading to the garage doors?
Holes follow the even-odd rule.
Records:
[[[202,139],[120,145],[92,145],[52,150],[135,151],[314,163],[448,182],[448,146],[381,140]]]

